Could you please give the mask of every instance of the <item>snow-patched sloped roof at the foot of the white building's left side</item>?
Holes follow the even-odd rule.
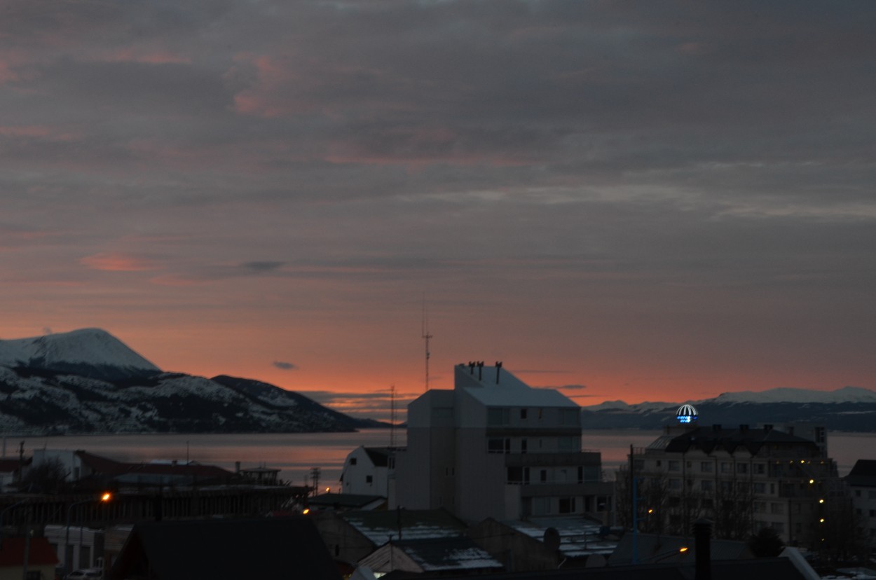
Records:
[[[402,540],[451,538],[462,535],[466,525],[445,510],[378,510],[346,512],[343,520],[376,546],[392,538]]]

